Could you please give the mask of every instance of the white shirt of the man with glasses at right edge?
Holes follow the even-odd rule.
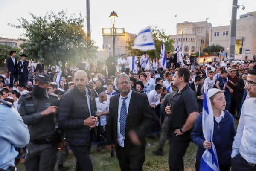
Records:
[[[231,157],[241,154],[247,162],[256,164],[256,98],[244,101]]]

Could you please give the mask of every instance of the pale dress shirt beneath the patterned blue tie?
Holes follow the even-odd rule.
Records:
[[[130,92],[126,96],[128,98],[125,100],[127,115],[128,115],[128,109],[129,109],[129,104],[130,104],[130,100],[131,100],[131,93],[132,93],[132,90],[130,90]],[[122,97],[120,94],[119,104],[118,104],[118,115],[117,115],[117,142],[121,147],[125,147],[125,137],[122,136],[122,134],[120,132],[120,122],[119,122],[120,115],[121,115],[121,107],[122,107],[122,102],[123,102],[122,98],[125,98],[125,97]]]

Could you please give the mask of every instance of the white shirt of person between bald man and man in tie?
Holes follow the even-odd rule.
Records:
[[[109,110],[109,100],[99,102],[99,97],[95,98],[97,113],[102,113]],[[107,115],[100,116],[100,126],[104,126],[107,124]],[[97,126],[99,125],[99,121],[97,122]]]

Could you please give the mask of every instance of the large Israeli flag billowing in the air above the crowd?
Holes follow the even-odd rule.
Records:
[[[140,30],[134,39],[132,49],[138,49],[140,51],[155,50],[154,39],[149,27]]]

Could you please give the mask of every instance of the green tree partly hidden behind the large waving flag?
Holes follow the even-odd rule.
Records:
[[[147,52],[151,59],[154,59],[156,57],[160,58],[162,41],[164,41],[166,52],[168,52],[168,51],[173,52],[174,51],[174,47],[172,45],[174,43],[174,41],[169,39],[169,36],[166,35],[166,33],[163,31],[163,29],[159,29],[157,26],[155,26],[155,27],[151,26],[151,32],[152,32],[154,43],[155,43],[155,46],[156,46],[156,51],[155,50],[150,50],[150,51]],[[133,45],[133,42],[134,42],[134,38],[131,38],[128,41],[128,46],[126,46],[126,48],[128,49],[130,54],[140,56],[140,55],[143,54],[143,52],[141,52],[140,50],[137,50],[137,49],[131,49],[131,47]]]

